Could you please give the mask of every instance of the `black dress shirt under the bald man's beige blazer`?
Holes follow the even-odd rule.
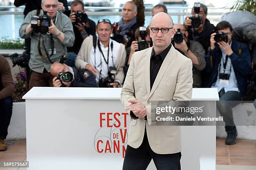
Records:
[[[164,62],[164,58],[166,57],[167,53],[170,51],[172,47],[172,43],[164,49],[160,54],[155,55],[154,47],[151,52],[151,58],[150,58],[150,91],[153,87],[153,84],[156,80],[156,76],[161,68],[162,63]],[[132,119],[138,119],[138,117],[135,116],[135,114],[131,111],[130,115]],[[145,116],[145,120],[147,120],[147,116]]]

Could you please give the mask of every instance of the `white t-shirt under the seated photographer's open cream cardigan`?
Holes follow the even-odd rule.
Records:
[[[97,39],[98,42],[98,39]],[[113,42],[113,59],[112,59],[112,51],[110,44]],[[97,43],[96,43],[97,45]],[[98,45],[96,46],[95,53],[94,53],[94,48],[92,46],[91,50],[91,56],[90,56],[90,64],[92,66],[95,66],[98,74],[96,76],[96,82],[99,82],[100,78],[100,70],[101,70],[101,77],[107,77],[108,76],[108,68],[110,66],[116,66],[116,59],[118,58],[118,51],[120,49],[120,43],[110,39],[109,41],[109,58],[108,58],[108,47],[104,48],[103,44],[100,42],[100,48],[102,50],[102,53],[104,54],[105,60],[108,61],[108,64],[105,62],[102,53],[100,52]],[[95,64],[96,61],[96,64]],[[114,63],[114,64],[113,64]]]

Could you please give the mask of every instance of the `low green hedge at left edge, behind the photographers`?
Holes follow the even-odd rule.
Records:
[[[17,40],[10,40],[4,36],[0,40],[0,49],[20,49],[25,46],[25,42],[18,38]]]

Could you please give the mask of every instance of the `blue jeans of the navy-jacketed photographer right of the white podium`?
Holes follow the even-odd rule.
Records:
[[[225,130],[227,133],[235,132],[236,126],[233,119],[232,108],[240,103],[242,100],[241,93],[238,91],[227,91],[221,89],[219,92],[220,101],[217,101],[217,109],[226,124]],[[235,102],[238,101],[238,102]]]

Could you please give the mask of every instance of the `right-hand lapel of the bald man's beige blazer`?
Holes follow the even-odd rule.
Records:
[[[160,83],[162,77],[164,76],[164,73],[166,72],[167,67],[169,66],[170,62],[172,61],[172,58],[174,56],[175,53],[175,49],[172,46],[172,48],[169,50],[169,52],[167,53],[166,57],[164,58],[164,62],[162,63],[160,70],[156,76],[156,80],[154,81],[153,87],[150,91],[150,94],[148,96],[148,98],[154,93],[154,91],[156,90],[156,87],[158,86],[158,84]],[[150,61],[149,61],[149,65],[150,65]],[[150,88],[150,80],[149,80],[149,88]]]

